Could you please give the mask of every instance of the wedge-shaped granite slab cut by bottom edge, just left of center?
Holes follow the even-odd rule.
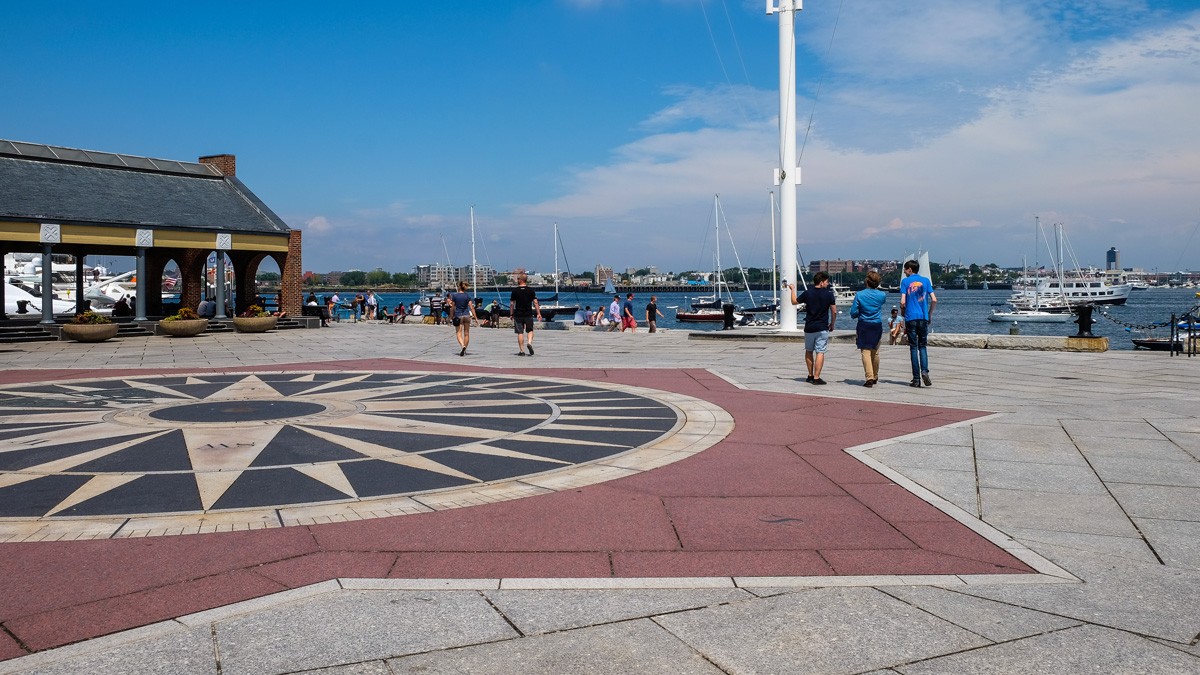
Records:
[[[719,675],[720,669],[649,620],[625,621],[492,645],[390,659],[397,675],[494,673],[664,673]]]

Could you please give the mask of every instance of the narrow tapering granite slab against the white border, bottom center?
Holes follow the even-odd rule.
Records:
[[[742,589],[485,591],[522,633],[550,633],[750,599]]]

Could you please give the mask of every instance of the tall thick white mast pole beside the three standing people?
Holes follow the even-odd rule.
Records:
[[[796,12],[804,0],[767,0],[767,13],[779,14],[779,153],[782,166],[775,169],[775,185],[780,186],[779,247],[784,250],[780,274],[784,281],[796,282],[796,187],[800,184],[800,167],[796,163]],[[779,329],[796,331],[796,307],[791,298],[780,303]]]

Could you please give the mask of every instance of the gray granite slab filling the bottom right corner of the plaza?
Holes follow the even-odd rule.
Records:
[[[905,675],[1008,673],[1195,673],[1200,659],[1139,635],[1097,626],[1055,631],[896,668]]]

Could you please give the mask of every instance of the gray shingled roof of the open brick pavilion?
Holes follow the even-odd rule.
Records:
[[[0,147],[0,220],[247,233],[290,229],[233,177],[18,156],[6,151],[12,147]]]

